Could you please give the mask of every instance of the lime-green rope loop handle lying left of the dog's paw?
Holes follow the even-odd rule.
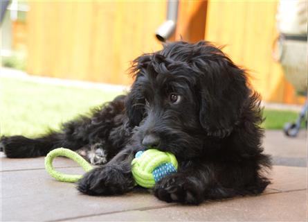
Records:
[[[62,182],[77,182],[78,180],[80,180],[80,178],[82,178],[82,175],[69,175],[65,173],[60,173],[59,171],[55,171],[55,169],[53,168],[53,160],[55,159],[55,157],[58,156],[69,157],[71,160],[77,162],[87,172],[93,169],[91,164],[89,164],[87,160],[84,160],[84,158],[78,153],[75,153],[68,148],[56,148],[53,151],[49,152],[45,157],[45,169],[56,180]]]

